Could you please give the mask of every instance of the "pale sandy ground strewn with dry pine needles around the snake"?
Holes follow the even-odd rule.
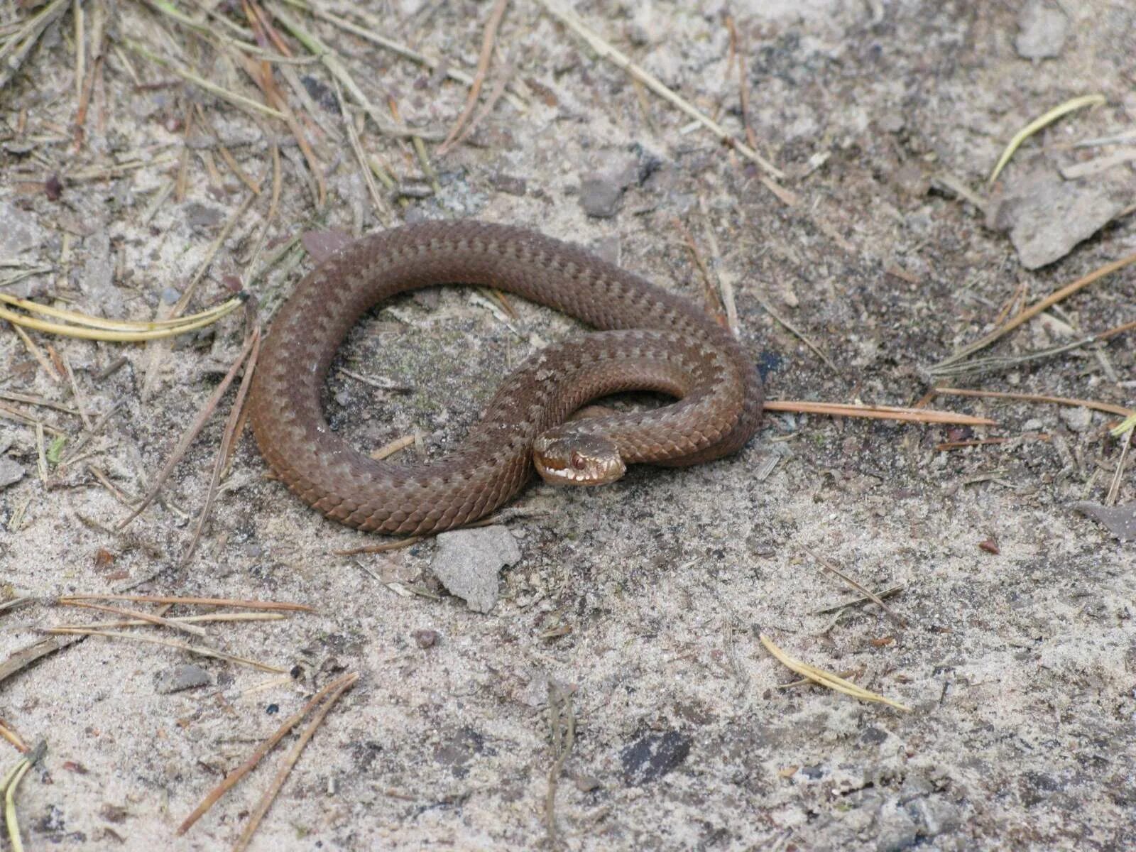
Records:
[[[743,136],[729,7],[691,6],[582,2],[577,11]],[[111,12],[111,40],[81,149],[73,144],[72,11],[0,91],[0,260],[49,267],[0,292],[30,289],[91,314],[149,318],[184,292],[250,195],[218,140],[264,191],[233,219],[191,310],[222,301],[227,279],[304,229],[358,233],[457,216],[537,226],[702,299],[685,228],[715,286],[733,285],[741,337],[774,399],[911,404],[929,387],[926,369],[993,327],[1004,304],[1031,303],[1136,250],[1131,217],[1121,216],[1029,270],[975,206],[985,203],[985,179],[1014,132],[1075,95],[1101,92],[1108,103],[1026,142],[1002,187],[1020,185],[1030,169],[1133,150],[1130,135],[1127,148],[1070,147],[1130,133],[1136,122],[1136,9],[1119,0],[1028,12],[1019,3],[930,0],[733,3],[749,122],[758,148],[785,172],[792,206],[767,189],[757,165],[687,127],[686,116],[538,5],[513,2],[482,102],[506,78],[513,81],[508,97],[465,143],[434,159],[440,191],[411,193],[406,204],[379,185],[376,210],[326,69],[278,66],[277,85],[307,116],[304,133],[326,174],[323,212],[284,124],[183,83],[130,40],[264,102],[243,72],[141,3],[84,7],[86,68],[100,10]],[[473,72],[491,5],[403,0],[366,10],[386,36]],[[0,23],[30,14],[9,5]],[[1038,50],[1021,41],[1022,27],[1036,26],[1026,18],[1041,14],[1049,23],[1030,37],[1055,55],[1024,58]],[[236,12],[231,19],[244,22]],[[445,132],[461,111],[465,85],[302,19],[384,116],[392,97],[404,122]],[[368,156],[411,189],[428,186],[408,142],[361,118],[359,126]],[[272,204],[269,137],[282,141],[282,190],[266,251],[253,258]],[[108,173],[111,162],[127,165]],[[47,179],[52,174],[60,186]],[[601,189],[625,187],[609,199],[613,216],[584,211],[603,202],[590,195],[595,175]],[[1129,165],[1109,175],[1136,193]],[[960,198],[952,183],[975,198]],[[285,260],[252,289],[270,304],[310,262]],[[993,353],[1041,350],[1131,320],[1134,301],[1128,269]],[[412,432],[432,454],[460,442],[503,373],[541,341],[573,331],[546,310],[516,309],[510,326],[471,291],[448,290],[376,314],[333,368],[332,423],[366,448]],[[0,579],[7,596],[39,599],[0,613],[0,660],[39,641],[37,627],[94,620],[52,603],[64,593],[132,586],[294,601],[316,612],[210,625],[193,640],[291,671],[283,678],[91,637],[5,680],[0,719],[48,744],[17,795],[28,849],[232,845],[282,752],[186,836],[174,829],[316,690],[351,671],[359,682],[303,752],[252,849],[1136,845],[1136,556],[1070,509],[1105,499],[1121,452],[1105,429],[1116,416],[946,396],[934,404],[999,426],[770,414],[743,452],[711,465],[635,469],[600,490],[534,484],[507,521],[520,559],[501,573],[500,601],[483,615],[441,593],[432,541],[336,556],[373,540],[321,519],[270,481],[248,435],[198,553],[178,569],[220,441],[218,418],[177,467],[165,503],[115,532],[126,509],[91,466],[125,500],[144,493],[242,334],[234,315],[173,349],[34,336],[67,359],[92,419],[120,408],[78,460],[48,463],[47,484],[34,427],[0,419],[0,454],[24,469],[0,488]],[[1131,406],[1134,353],[1133,335],[1119,335],[969,386]],[[122,356],[125,366],[100,377]],[[341,368],[411,391],[383,391]],[[0,391],[75,402],[68,383],[52,379],[10,329],[0,329]],[[67,411],[0,402],[72,442],[84,429]],[[1008,441],[938,449],[985,437]],[[1118,502],[1131,502],[1133,492],[1122,477]],[[902,585],[888,603],[905,626],[874,604],[817,613],[857,593],[810,551],[871,588]],[[911,711],[815,686],[780,688],[794,675],[759,633]],[[207,683],[166,692],[187,663]],[[554,772],[554,841],[550,691],[571,694],[575,720],[571,750]],[[10,766],[17,753],[0,746]]]

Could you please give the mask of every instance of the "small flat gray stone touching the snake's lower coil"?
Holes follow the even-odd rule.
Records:
[[[490,612],[498,602],[498,571],[519,559],[520,549],[506,527],[456,529],[437,536],[431,570],[474,612]]]

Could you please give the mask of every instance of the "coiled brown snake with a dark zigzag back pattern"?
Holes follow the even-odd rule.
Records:
[[[499,287],[611,331],[532,356],[454,452],[411,467],[376,461],[328,427],[324,379],[364,312],[434,284]],[[630,390],[678,401],[568,421],[590,400]],[[249,404],[260,451],[304,501],[360,529],[424,534],[493,511],[534,461],[549,481],[596,484],[628,462],[738,450],[761,419],[761,382],[733,335],[686,299],[533,231],[458,220],[371,234],[303,278],[273,321]]]

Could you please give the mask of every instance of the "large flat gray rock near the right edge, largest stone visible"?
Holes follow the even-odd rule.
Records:
[[[1060,260],[1136,201],[1130,173],[1110,169],[1102,175],[1066,181],[1053,168],[1035,166],[1012,183],[991,209],[987,225],[1006,231],[1027,269]]]

